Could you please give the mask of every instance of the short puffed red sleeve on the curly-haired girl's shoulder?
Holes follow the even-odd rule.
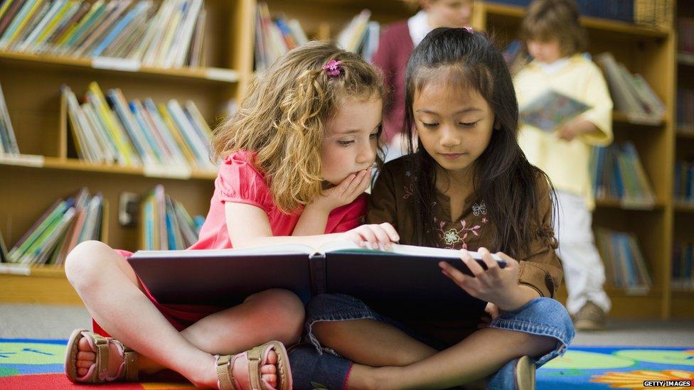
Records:
[[[245,203],[260,207],[265,212],[272,204],[264,176],[241,153],[234,153],[221,163],[215,190],[223,203]]]

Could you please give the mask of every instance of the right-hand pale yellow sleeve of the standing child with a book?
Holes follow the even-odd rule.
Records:
[[[609,97],[607,82],[597,65],[590,63],[586,71],[585,102],[593,108],[582,115],[583,119],[594,124],[598,131],[582,134],[581,138],[589,145],[605,146],[612,142],[612,98]]]

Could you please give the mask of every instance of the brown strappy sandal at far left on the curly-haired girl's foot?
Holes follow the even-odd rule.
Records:
[[[83,377],[78,377],[77,373],[77,354],[79,351],[78,345],[82,337],[86,337],[92,352],[96,354],[94,364],[89,367],[87,374]],[[109,344],[113,343],[117,346],[123,362],[118,367],[118,371],[112,377],[108,375],[109,364]],[[65,375],[75,384],[79,383],[104,383],[107,381],[137,381],[137,352],[123,345],[122,342],[114,338],[103,337],[95,332],[90,332],[86,329],[75,329],[70,340],[68,340],[68,350],[65,352]]]

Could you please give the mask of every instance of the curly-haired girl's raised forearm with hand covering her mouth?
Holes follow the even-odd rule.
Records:
[[[324,196],[304,208],[292,236],[324,234],[328,215],[337,207],[348,205],[364,193],[371,180],[371,168],[351,174],[342,183],[324,191]]]

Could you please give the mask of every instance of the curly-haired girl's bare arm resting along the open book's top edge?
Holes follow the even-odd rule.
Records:
[[[333,239],[349,239],[358,244],[388,247],[400,237],[390,224],[362,225],[344,233],[319,234],[311,236],[273,237],[267,214],[260,207],[245,203],[225,202],[225,218],[229,238],[234,248],[260,247],[275,244],[306,244],[319,247]]]

